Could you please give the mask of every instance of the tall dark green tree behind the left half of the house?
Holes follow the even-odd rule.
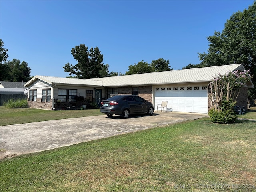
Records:
[[[80,44],[71,49],[71,54],[78,63],[76,65],[65,64],[64,71],[69,72],[70,75],[74,74],[76,78],[81,79],[110,76],[109,65],[103,64],[103,55],[98,47],[88,50],[85,44]]]

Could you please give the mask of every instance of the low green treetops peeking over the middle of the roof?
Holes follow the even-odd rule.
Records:
[[[138,62],[137,64],[130,65],[129,71],[126,71],[126,75],[131,74],[141,74],[141,73],[150,73],[150,72],[160,72],[160,71],[170,71],[169,60],[164,60],[162,58],[158,60],[152,60],[149,64],[148,62],[144,62],[143,60]]]

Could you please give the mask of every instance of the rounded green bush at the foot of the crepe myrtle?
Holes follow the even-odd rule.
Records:
[[[234,106],[236,102],[233,100],[229,101],[222,101],[222,110],[218,111],[212,108],[208,115],[210,116],[212,122],[214,123],[223,123],[223,124],[230,124],[234,123],[237,119],[236,112],[234,111]]]

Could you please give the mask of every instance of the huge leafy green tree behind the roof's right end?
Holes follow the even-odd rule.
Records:
[[[198,53],[202,62],[187,68],[242,63],[253,74],[252,82],[256,85],[256,1],[243,12],[232,14],[223,31],[215,32],[207,40],[208,52]],[[248,94],[253,101],[256,88],[249,89]]]

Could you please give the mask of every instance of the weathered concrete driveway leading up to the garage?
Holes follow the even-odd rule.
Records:
[[[100,115],[1,126],[0,149],[4,150],[0,150],[0,158],[54,149],[205,116],[207,114],[155,112],[152,116],[145,114],[131,116],[128,119]]]

